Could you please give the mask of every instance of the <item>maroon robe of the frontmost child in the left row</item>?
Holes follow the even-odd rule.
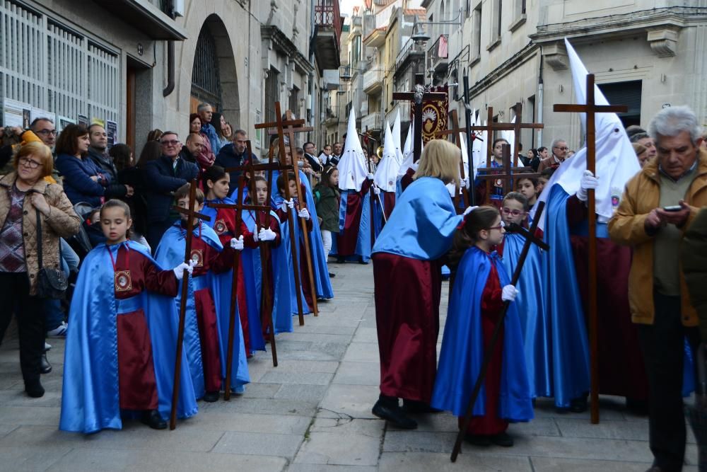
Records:
[[[116,299],[128,299],[144,290],[177,297],[177,277],[173,270],[157,266],[138,251],[118,248],[115,271],[129,270],[130,284],[116,290]],[[116,317],[118,338],[118,397],[124,410],[156,410],[158,407],[155,367],[150,331],[143,309]]]

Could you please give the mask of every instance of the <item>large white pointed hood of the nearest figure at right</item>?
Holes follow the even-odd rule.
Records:
[[[583,105],[587,100],[588,72],[567,39],[565,39],[565,45],[572,69],[575,97],[577,97],[577,102]],[[594,93],[597,105],[609,105],[604,94],[596,85]],[[580,120],[582,120],[583,129],[585,129],[585,113],[580,114]],[[595,126],[596,175],[599,179],[599,188],[595,190],[596,212],[599,221],[605,222],[612,217],[614,209],[619,206],[621,194],[624,192],[626,183],[638,171],[641,171],[641,166],[638,165],[636,152],[633,151],[629,137],[624,131],[624,125],[616,113],[597,113],[595,115]],[[557,168],[552,178],[545,185],[538,202],[547,202],[550,196],[550,188],[553,185],[561,185],[565,192],[569,195],[574,195],[579,190],[580,180],[586,169],[587,147],[585,146]],[[532,209],[531,214],[535,214],[535,208]],[[539,227],[541,229],[544,228],[544,218],[540,221]]]

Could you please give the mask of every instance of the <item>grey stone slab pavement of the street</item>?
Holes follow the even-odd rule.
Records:
[[[387,426],[370,413],[379,375],[371,266],[331,269],[336,298],[320,304],[319,317],[307,316],[305,326],[279,336],[279,367],[258,353],[249,363],[252,384],[245,395],[199,403],[199,414],[173,432],[139,422],[90,436],[60,432],[63,340],[50,341],[54,371],[42,377],[47,393],[36,400],[23,394],[17,341],[8,340],[0,347],[0,471],[609,472],[650,466],[648,423],[626,413],[617,398],[602,398],[600,425],[590,425],[588,414],[559,415],[539,401],[535,420],[510,426],[514,447],[466,445],[456,464],[449,454],[457,422],[448,413],[420,416],[414,431]],[[689,443],[687,459],[695,464],[691,435]]]

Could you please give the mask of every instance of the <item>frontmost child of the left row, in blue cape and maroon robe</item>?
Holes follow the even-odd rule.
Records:
[[[106,242],[86,255],[71,299],[59,429],[84,433],[122,428],[137,413],[156,430],[172,406],[177,345],[174,297],[184,271],[162,270],[148,249],[127,240],[130,208],[109,200],[100,210]],[[192,379],[182,358],[177,413],[197,413]]]

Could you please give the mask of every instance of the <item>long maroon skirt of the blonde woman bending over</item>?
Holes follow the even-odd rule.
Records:
[[[380,393],[429,403],[437,374],[441,266],[374,253],[373,283]]]

